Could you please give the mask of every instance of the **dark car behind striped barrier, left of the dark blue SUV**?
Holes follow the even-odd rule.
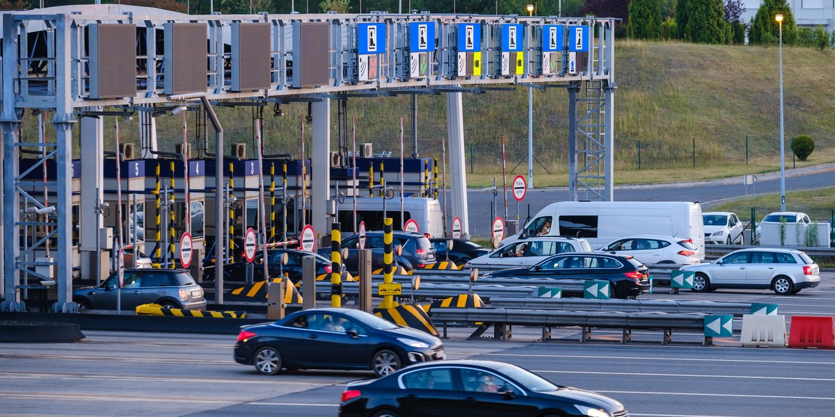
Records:
[[[281,277],[281,273],[287,275],[288,278],[296,284],[301,281],[301,259],[306,256],[313,256],[316,260],[316,276],[321,274],[331,273],[331,260],[326,259],[320,254],[314,254],[298,249],[268,249],[266,251],[267,260],[270,268],[270,276],[272,278]],[[281,256],[287,254],[287,264],[281,264]],[[264,254],[256,252],[255,260],[252,262],[252,274],[254,279],[264,279]],[[246,278],[246,268],[249,262],[246,259],[238,258],[233,264],[223,265],[223,276],[227,281],[244,281]],[[204,270],[206,279],[213,279],[215,277],[215,266],[212,265]]]

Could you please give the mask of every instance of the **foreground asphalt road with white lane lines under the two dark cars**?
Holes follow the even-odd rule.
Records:
[[[779,304],[781,314],[835,315],[835,273],[822,285],[778,297],[765,290],[718,290],[645,299]],[[790,317],[787,320],[790,321]],[[700,333],[595,329],[579,344],[579,329],[514,328],[510,340],[467,340],[452,329],[449,359],[493,359],[532,369],[558,384],[591,389],[623,402],[632,416],[827,417],[835,404],[832,350],[741,348],[739,320],[731,338],[701,346]],[[790,328],[790,326],[789,326]],[[337,415],[344,384],[368,372],[294,371],[256,374],[235,364],[230,335],[84,332],[74,344],[0,344],[0,415],[144,416]]]

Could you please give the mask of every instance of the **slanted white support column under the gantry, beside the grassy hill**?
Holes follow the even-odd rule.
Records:
[[[452,172],[452,212],[461,219],[461,239],[469,239],[467,211],[467,167],[461,93],[447,93],[447,135],[449,168]]]

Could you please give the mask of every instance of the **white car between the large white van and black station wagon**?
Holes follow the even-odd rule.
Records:
[[[566,252],[592,252],[592,249],[586,239],[540,236],[501,246],[489,254],[470,259],[466,266],[479,269],[522,268]]]

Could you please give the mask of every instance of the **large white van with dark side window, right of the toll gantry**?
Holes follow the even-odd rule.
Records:
[[[572,236],[598,249],[635,234],[659,234],[691,239],[705,259],[705,229],[701,205],[691,202],[560,201],[545,206],[508,244],[531,236]]]

